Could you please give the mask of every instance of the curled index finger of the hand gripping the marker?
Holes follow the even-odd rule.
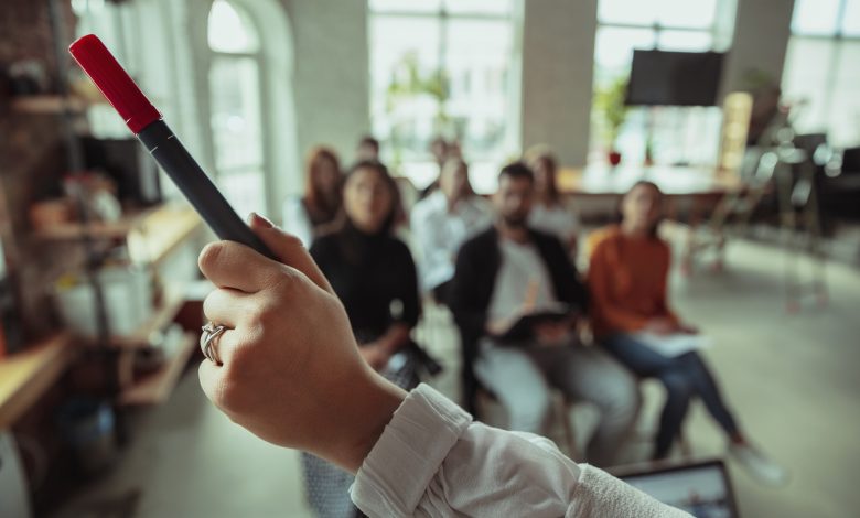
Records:
[[[283,279],[286,269],[234,241],[211,242],[197,259],[201,271],[218,288],[256,293]]]

